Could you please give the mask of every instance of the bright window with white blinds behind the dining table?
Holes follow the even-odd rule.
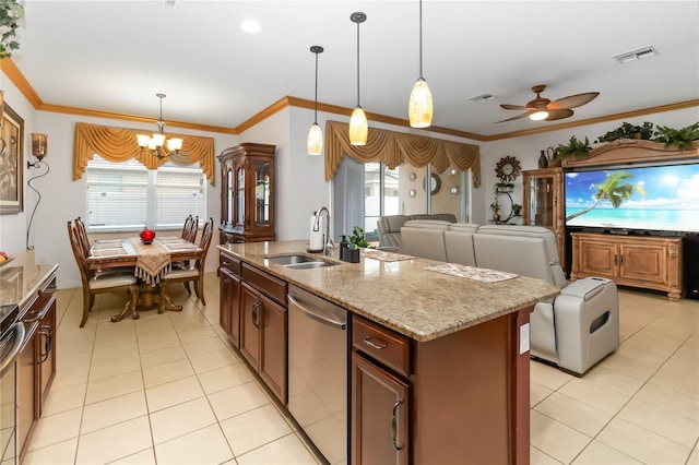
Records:
[[[177,229],[187,215],[206,217],[206,180],[198,166],[166,163],[149,170],[137,160],[110,163],[95,155],[85,171],[91,231]]]

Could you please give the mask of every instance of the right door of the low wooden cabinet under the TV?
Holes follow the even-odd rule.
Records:
[[[620,277],[654,284],[668,284],[666,247],[620,243],[619,257]]]

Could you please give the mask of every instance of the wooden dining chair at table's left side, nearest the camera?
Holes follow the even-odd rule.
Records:
[[[80,327],[83,327],[87,321],[87,315],[95,303],[95,295],[111,293],[115,290],[128,290],[131,294],[131,300],[127,305],[129,306],[131,315],[137,320],[139,318],[139,313],[135,311],[137,300],[139,298],[139,287],[138,279],[133,275],[133,269],[131,269],[130,274],[95,274],[87,264],[87,255],[84,253],[79,234],[78,226],[73,226],[71,222],[68,222],[68,238],[70,240],[71,248],[73,249],[73,257],[78,263],[80,278],[83,286],[83,318],[80,322]],[[112,319],[112,321],[115,320]]]

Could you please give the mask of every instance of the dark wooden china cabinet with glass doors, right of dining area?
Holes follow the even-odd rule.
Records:
[[[242,143],[221,163],[221,243],[274,240],[274,145]]]

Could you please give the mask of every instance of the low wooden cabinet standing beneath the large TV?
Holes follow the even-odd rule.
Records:
[[[664,290],[682,298],[682,238],[573,233],[572,281],[608,277],[624,286]]]

